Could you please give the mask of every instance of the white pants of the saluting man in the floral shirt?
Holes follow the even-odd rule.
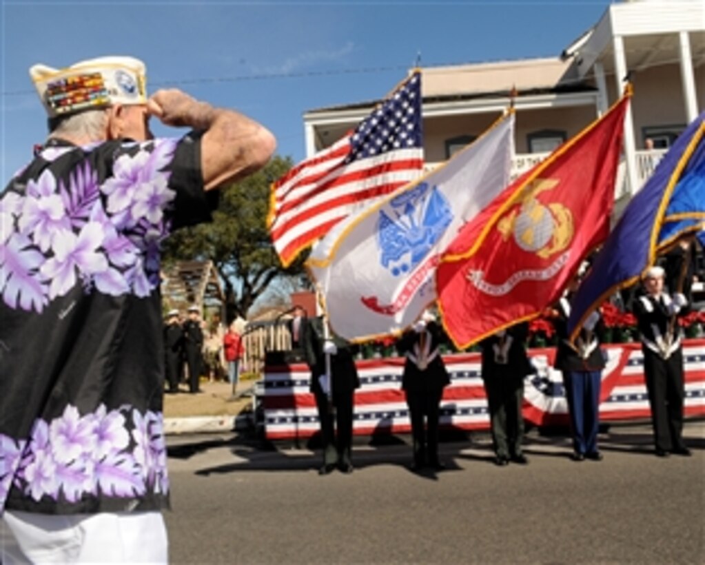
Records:
[[[168,562],[166,525],[158,511],[62,516],[5,511],[3,521],[3,565]]]

